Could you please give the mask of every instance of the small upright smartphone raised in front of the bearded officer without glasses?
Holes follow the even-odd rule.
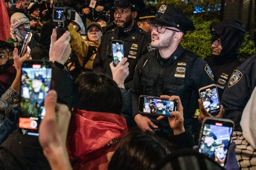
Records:
[[[123,41],[112,40],[113,63],[116,67],[121,60],[123,60]]]

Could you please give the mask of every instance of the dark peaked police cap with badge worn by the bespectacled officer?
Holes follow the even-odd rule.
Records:
[[[188,19],[180,10],[177,10],[167,4],[160,6],[152,24],[175,27],[184,34],[186,34],[187,31],[195,30],[193,21]]]

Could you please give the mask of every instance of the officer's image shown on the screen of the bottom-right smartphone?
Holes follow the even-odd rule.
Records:
[[[212,132],[208,132],[205,137],[203,144],[200,147],[200,152],[209,156],[213,160],[215,160],[215,146],[214,141],[217,139],[216,135]]]

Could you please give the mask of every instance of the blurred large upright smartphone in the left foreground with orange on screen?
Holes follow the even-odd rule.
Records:
[[[52,63],[26,61],[21,74],[21,112],[19,130],[38,136],[38,127],[45,115],[44,99],[51,88]]]

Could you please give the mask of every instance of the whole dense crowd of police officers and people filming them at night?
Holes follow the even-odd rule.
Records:
[[[0,41],[1,170],[256,169],[256,54],[245,61],[240,57],[241,21],[211,24],[212,55],[203,60],[180,44],[195,30],[193,22],[169,5],[143,0],[62,5],[75,10],[75,20],[62,25],[66,31],[59,37],[48,1],[6,2],[11,33]],[[28,32],[31,40],[19,57]],[[120,43],[115,50],[113,41]],[[21,70],[29,60],[51,62],[51,76]],[[198,93],[211,84],[220,100],[215,114]],[[27,89],[22,96],[21,87]],[[34,104],[22,111],[25,95]],[[142,113],[141,95],[170,102],[150,100],[149,111]],[[177,103],[175,111],[171,101]],[[207,102],[213,103],[209,95]],[[18,127],[21,112],[35,117],[35,109],[43,113],[38,136]],[[235,124],[226,137],[230,144],[223,140],[228,151],[222,158],[214,151],[219,142],[214,131],[203,134],[197,146],[208,117]]]

